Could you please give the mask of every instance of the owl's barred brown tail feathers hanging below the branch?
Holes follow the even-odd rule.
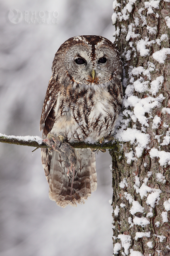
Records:
[[[47,153],[48,154],[48,153]],[[75,150],[77,165],[70,198],[72,173],[67,176],[68,169],[64,166],[62,156],[53,152],[49,170],[49,198],[61,207],[67,205],[77,206],[91,196],[97,187],[95,153],[90,148]]]

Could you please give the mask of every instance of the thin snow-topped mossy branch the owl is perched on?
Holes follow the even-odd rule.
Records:
[[[13,136],[13,135],[4,135],[0,133],[0,142],[8,143],[8,144],[16,144],[21,146],[31,146],[36,148],[49,148],[47,144],[45,144],[42,138],[38,136]],[[85,142],[77,142],[72,144],[74,148],[101,148],[101,144],[97,142],[97,144],[89,144]],[[103,149],[114,149],[115,144],[105,143],[102,146]]]

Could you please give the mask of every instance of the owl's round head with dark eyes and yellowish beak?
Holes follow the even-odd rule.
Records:
[[[76,84],[99,85],[114,77],[121,79],[122,64],[110,40],[101,36],[77,36],[60,46],[52,72],[58,81],[69,78]]]

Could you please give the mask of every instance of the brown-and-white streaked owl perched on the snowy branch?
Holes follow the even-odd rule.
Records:
[[[123,68],[119,53],[101,36],[66,40],[55,54],[40,120],[42,164],[49,197],[77,206],[96,190],[95,153],[74,142],[110,141],[122,106]]]

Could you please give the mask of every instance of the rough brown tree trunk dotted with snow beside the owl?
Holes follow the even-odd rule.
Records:
[[[110,150],[113,254],[170,255],[170,0],[115,0],[124,100]]]

